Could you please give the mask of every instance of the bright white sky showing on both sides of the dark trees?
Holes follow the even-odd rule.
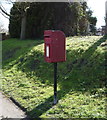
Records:
[[[105,17],[105,2],[107,0],[87,0],[88,7],[93,11],[93,16],[97,17],[97,28],[101,28],[101,26],[105,25],[104,17]],[[6,2],[2,2],[2,5],[5,7],[6,11],[9,13],[12,7],[12,4],[8,4]],[[9,20],[5,18],[0,13],[0,23],[4,25],[4,28],[8,30]]]

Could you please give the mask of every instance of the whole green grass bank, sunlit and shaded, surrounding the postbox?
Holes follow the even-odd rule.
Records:
[[[67,61],[58,63],[53,105],[53,63],[43,40],[3,41],[2,90],[35,118],[106,118],[106,38],[68,37]]]

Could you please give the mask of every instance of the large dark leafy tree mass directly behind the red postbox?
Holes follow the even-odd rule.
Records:
[[[14,11],[16,11],[16,13],[18,12],[15,6],[16,4],[11,9],[13,16]],[[22,9],[22,7],[23,4],[21,3],[19,9]],[[62,30],[65,32],[66,36],[79,35],[81,34],[80,23],[86,15],[81,3],[42,2],[30,3],[26,16],[26,37],[35,38],[43,36],[45,29]],[[13,19],[13,17],[10,19],[10,33],[16,24],[16,29],[19,29],[19,26],[21,26],[20,19]],[[84,24],[86,24],[86,18],[84,19]],[[86,26],[84,26],[82,30],[85,32]]]

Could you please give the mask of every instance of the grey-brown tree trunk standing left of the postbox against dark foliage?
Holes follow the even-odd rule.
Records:
[[[24,13],[22,16],[20,39],[21,40],[26,39],[26,13]]]

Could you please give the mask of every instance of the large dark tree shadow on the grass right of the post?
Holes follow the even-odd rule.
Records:
[[[105,74],[106,62],[105,60],[102,60],[101,63],[96,63],[98,62],[96,59],[101,59],[102,56],[96,54],[94,56],[94,59],[92,58],[92,56],[97,47],[106,40],[106,37],[102,37],[92,46],[90,46],[84,53],[81,53],[79,58],[74,59],[68,64],[65,64],[66,69],[64,69],[64,71],[66,70],[66,72],[63,71],[63,75],[65,75],[66,77],[62,77],[63,80],[61,80],[59,83],[61,84],[61,89],[71,87],[71,89],[73,90],[84,92],[91,91],[94,88],[99,88],[105,85],[105,81],[107,79]],[[78,55],[78,51],[70,51],[70,53],[71,52],[74,52]],[[70,56],[70,53],[68,51],[68,58]],[[105,53],[102,53],[102,55],[105,56]],[[101,68],[100,70],[102,71],[98,71],[99,68]],[[101,73],[104,73],[105,76]],[[99,80],[96,81],[96,79],[94,78]],[[66,84],[66,82],[68,82],[68,84]]]

